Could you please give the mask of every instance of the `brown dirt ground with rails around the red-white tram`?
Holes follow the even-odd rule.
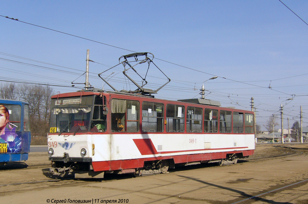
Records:
[[[25,164],[0,168],[0,202],[236,203],[308,179],[308,144],[276,146],[257,144],[255,155],[232,165],[191,165],[139,178],[106,175],[105,179],[61,181],[48,176],[47,153],[30,153]],[[304,181],[241,203],[304,204],[307,190],[308,181]]]

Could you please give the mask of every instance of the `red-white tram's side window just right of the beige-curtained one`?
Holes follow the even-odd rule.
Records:
[[[142,102],[142,131],[164,131],[164,104]]]

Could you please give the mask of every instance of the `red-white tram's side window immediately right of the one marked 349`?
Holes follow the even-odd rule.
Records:
[[[218,110],[204,109],[204,132],[218,132]]]

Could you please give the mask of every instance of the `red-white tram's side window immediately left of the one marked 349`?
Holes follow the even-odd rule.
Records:
[[[167,104],[166,120],[167,132],[184,132],[184,106]]]

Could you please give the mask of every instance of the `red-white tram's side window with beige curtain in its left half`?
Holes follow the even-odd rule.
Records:
[[[120,132],[138,132],[140,117],[139,101],[111,100],[111,130]]]

